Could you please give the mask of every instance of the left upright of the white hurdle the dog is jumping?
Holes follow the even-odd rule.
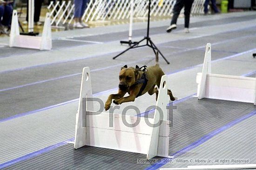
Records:
[[[78,112],[76,113],[75,121],[75,136],[74,136],[74,148],[80,148],[86,145],[86,116],[83,115],[86,113],[86,110],[93,110],[93,103],[87,102],[86,108],[83,108],[82,98],[93,97],[92,87],[91,87],[91,74],[89,67],[83,68],[82,80],[81,80],[81,89],[79,97]]]

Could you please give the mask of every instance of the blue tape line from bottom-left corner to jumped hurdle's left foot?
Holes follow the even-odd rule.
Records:
[[[66,145],[68,142],[71,142],[71,141],[74,141],[74,138],[71,138],[71,139],[68,139],[66,141],[63,141],[63,142],[60,142],[60,143],[48,146],[48,147],[40,149],[38,151],[34,151],[34,152],[31,152],[31,153],[28,153],[27,155],[24,155],[22,157],[18,157],[18,158],[15,158],[13,160],[7,161],[7,162],[5,162],[3,164],[0,164],[0,169],[6,168],[6,167],[11,166],[13,164],[17,164],[17,163],[19,163],[21,161],[25,161],[25,160],[30,159],[32,157],[36,157],[36,156],[38,156],[38,155],[40,155],[42,153],[45,153],[47,151],[51,151],[51,150],[53,150],[55,148],[58,148],[60,146]]]

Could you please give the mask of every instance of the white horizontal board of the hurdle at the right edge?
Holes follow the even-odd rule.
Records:
[[[202,73],[196,77],[201,82]],[[208,74],[205,84],[205,97],[228,101],[255,102],[256,78]]]

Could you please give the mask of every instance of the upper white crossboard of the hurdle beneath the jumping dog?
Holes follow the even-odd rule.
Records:
[[[125,116],[125,117],[123,117]],[[123,121],[126,121],[130,125],[135,125],[136,120],[139,119],[139,123],[134,127],[126,126]],[[154,119],[148,118],[148,121],[153,124]],[[86,126],[96,127],[101,129],[109,129],[121,132],[132,132],[151,135],[152,129],[147,125],[146,119],[144,117],[121,115],[121,114],[111,114],[111,113],[101,113],[87,111],[86,113]],[[169,136],[169,121],[163,120],[160,126],[159,136],[168,137]]]

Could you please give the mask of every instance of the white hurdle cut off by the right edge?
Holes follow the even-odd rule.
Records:
[[[211,44],[206,45],[202,73],[197,73],[198,99],[240,101],[256,105],[256,78],[211,74]]]

